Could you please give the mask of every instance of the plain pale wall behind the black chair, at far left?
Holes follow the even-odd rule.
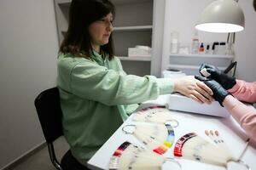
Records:
[[[0,169],[44,142],[36,95],[55,86],[53,0],[0,1]]]

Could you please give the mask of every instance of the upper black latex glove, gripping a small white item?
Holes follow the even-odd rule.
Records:
[[[200,66],[200,73],[201,70],[206,68],[207,72],[211,74],[210,77],[218,83],[222,85],[226,90],[233,88],[236,85],[236,78],[235,77],[229,77],[228,75],[224,74],[223,72],[219,71],[218,68],[214,65],[208,65],[208,64],[201,64]],[[203,76],[201,74],[201,76]]]

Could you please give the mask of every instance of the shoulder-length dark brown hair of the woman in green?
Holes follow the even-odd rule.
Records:
[[[114,17],[115,8],[108,0],[73,0],[69,8],[67,34],[61,42],[60,52],[90,58],[93,51],[88,27],[109,13]],[[101,51],[108,54],[108,59],[113,59],[112,35],[108,43],[101,46]]]

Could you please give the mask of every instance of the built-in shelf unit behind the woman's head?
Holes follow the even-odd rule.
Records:
[[[116,8],[113,21],[113,47],[128,74],[149,75],[152,57],[128,57],[128,48],[136,45],[152,47],[155,0],[110,0]],[[67,32],[71,0],[55,0],[59,44]],[[154,50],[154,49],[153,49]]]

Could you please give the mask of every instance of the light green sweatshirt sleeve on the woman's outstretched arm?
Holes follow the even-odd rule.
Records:
[[[156,99],[160,94],[156,77],[123,75],[93,63],[80,63],[71,72],[70,88],[81,98],[105,105],[128,105]]]

